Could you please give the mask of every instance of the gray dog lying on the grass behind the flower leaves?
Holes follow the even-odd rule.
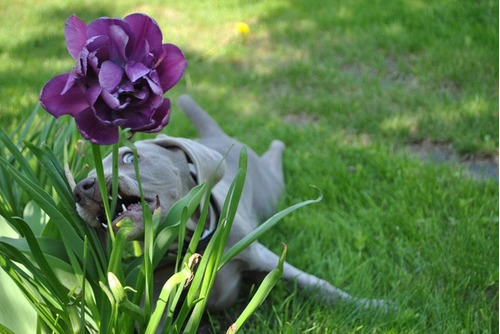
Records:
[[[210,238],[216,227],[218,210],[238,169],[239,151],[243,144],[224,133],[190,97],[182,96],[179,104],[198,130],[201,139],[194,141],[160,135],[154,140],[139,141],[135,145],[144,197],[151,210],[161,205],[163,217],[192,187],[210,178],[217,170],[222,155],[229,151],[225,164],[217,171],[217,183],[212,191],[211,214],[200,240],[202,244]],[[234,147],[230,150],[232,145]],[[260,157],[248,149],[246,182],[226,249],[255,229],[259,222],[276,212],[284,187],[281,162],[283,150],[284,144],[279,140],[273,141],[269,150]],[[135,179],[134,156],[128,148],[121,148],[119,154],[118,207],[121,210],[117,210],[113,228],[117,229],[115,226],[117,221],[125,216],[129,217],[134,223],[131,236],[138,238],[143,232],[143,219],[142,208],[138,203],[140,197]],[[109,178],[111,157],[105,158],[103,164],[105,174]],[[78,213],[87,223],[97,228],[108,228],[103,219],[102,198],[94,171],[76,185],[74,197]],[[194,230],[195,224],[194,220],[191,221],[188,228]],[[269,272],[276,267],[278,259],[278,255],[260,243],[254,242],[218,272],[209,297],[208,309],[220,310],[232,305],[237,299],[243,274]],[[155,271],[155,285],[162,286],[170,274],[168,270]],[[331,303],[343,300],[362,307],[385,308],[385,303],[381,300],[352,297],[327,281],[305,273],[288,263],[284,265],[283,277],[297,280],[300,287],[317,292]]]

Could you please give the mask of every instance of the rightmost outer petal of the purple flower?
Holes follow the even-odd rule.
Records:
[[[160,84],[164,92],[172,88],[186,70],[186,58],[182,51],[173,44],[163,44],[163,53],[156,62],[160,75]]]

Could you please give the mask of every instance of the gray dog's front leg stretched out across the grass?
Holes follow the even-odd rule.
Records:
[[[279,256],[274,254],[262,244],[255,242],[247,251],[240,254],[244,256],[247,262],[248,270],[259,272],[270,272],[276,268]],[[362,308],[382,308],[387,311],[387,304],[383,300],[356,298],[349,295],[347,292],[334,287],[329,282],[308,274],[295,268],[291,264],[285,262],[283,266],[283,278],[287,280],[297,280],[297,284],[306,290],[316,293],[318,297],[324,298],[331,304],[336,304],[339,301],[353,302]]]

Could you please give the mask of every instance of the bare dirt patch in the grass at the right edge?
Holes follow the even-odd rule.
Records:
[[[498,182],[498,155],[469,154],[459,155],[449,143],[425,139],[409,145],[412,153],[420,158],[437,162],[459,164],[467,168],[475,179],[493,179]]]

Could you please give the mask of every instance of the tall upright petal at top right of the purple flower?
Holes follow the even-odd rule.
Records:
[[[136,13],[125,17],[123,21],[128,23],[135,35],[134,50],[130,53],[130,59],[142,61],[149,50],[161,48],[163,36],[160,27],[152,18]]]

